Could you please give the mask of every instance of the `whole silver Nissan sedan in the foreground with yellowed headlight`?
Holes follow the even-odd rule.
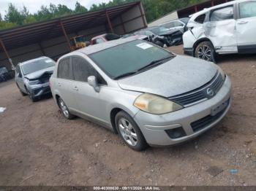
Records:
[[[230,108],[219,66],[134,38],[62,56],[50,87],[64,117],[98,122],[138,151],[195,138]]]

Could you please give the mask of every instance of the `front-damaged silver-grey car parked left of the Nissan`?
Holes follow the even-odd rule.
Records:
[[[45,56],[18,63],[15,82],[20,93],[29,95],[31,101],[37,101],[42,95],[49,94],[49,79],[55,65],[55,61]]]

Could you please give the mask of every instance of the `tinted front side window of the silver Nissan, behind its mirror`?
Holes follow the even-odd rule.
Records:
[[[107,85],[107,82],[98,74],[98,72],[91,66],[91,64],[84,58],[74,56],[72,57],[72,66],[74,71],[74,79],[79,82],[87,82],[88,77],[97,77],[99,84]]]

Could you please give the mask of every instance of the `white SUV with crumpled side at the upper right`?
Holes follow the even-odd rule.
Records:
[[[195,13],[183,35],[184,53],[206,61],[217,54],[256,53],[256,0],[230,1]]]

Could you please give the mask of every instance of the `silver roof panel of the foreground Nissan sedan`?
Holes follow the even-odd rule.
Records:
[[[132,42],[135,40],[136,40],[136,36],[129,36],[125,39],[116,39],[116,40],[112,40],[112,41],[108,41],[108,42],[94,44],[89,47],[84,47],[79,50],[75,50],[74,52],[70,52],[67,55],[73,55],[73,53],[75,53],[75,52],[82,52],[85,55],[90,55],[94,52],[99,52],[99,51],[108,49],[110,47],[116,47],[119,44],[124,44],[124,43]],[[67,56],[67,55],[64,55],[64,56]]]

